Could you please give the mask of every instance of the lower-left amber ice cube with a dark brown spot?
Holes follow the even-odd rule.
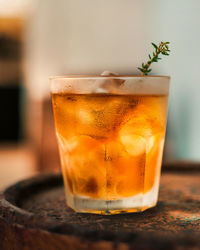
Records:
[[[73,181],[73,192],[93,198],[106,196],[105,148],[90,136],[58,135],[62,170]],[[68,181],[69,182],[69,181]]]

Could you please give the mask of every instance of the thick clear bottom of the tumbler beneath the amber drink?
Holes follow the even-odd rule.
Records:
[[[158,198],[158,186],[154,187],[146,194],[138,194],[128,198],[118,200],[99,200],[84,196],[74,196],[67,194],[67,205],[79,213],[93,214],[121,214],[142,212],[154,207]]]

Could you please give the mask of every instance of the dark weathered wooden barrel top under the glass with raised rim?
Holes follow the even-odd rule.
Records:
[[[200,164],[163,168],[159,202],[143,213],[77,214],[60,175],[39,175],[0,195],[0,249],[200,249]],[[196,247],[196,248],[195,248]]]

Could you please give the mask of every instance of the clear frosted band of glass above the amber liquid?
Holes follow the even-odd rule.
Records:
[[[168,94],[169,76],[66,75],[50,78],[51,93]]]

